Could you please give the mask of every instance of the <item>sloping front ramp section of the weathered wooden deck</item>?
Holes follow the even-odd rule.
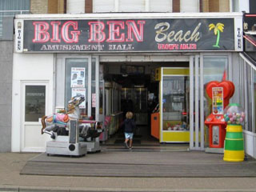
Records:
[[[21,174],[98,177],[256,177],[253,164],[143,165],[105,163],[27,162]]]

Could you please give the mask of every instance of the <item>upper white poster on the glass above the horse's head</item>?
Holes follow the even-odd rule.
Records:
[[[86,68],[71,67],[71,87],[85,87]]]

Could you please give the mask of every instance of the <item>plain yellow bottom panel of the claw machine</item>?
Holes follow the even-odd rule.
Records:
[[[190,131],[163,132],[162,142],[190,142]]]

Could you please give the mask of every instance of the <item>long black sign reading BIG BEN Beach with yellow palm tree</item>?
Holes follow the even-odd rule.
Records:
[[[242,22],[240,29],[242,33]],[[39,52],[234,51],[237,40],[234,18],[25,20],[23,48]]]

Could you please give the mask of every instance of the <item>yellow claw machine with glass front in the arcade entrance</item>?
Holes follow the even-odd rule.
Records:
[[[190,142],[189,75],[187,67],[161,67],[156,70],[156,80],[159,81],[159,142]]]

